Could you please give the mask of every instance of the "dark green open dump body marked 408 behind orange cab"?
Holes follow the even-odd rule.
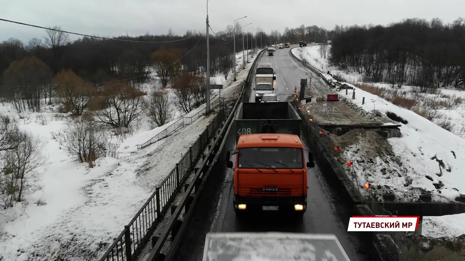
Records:
[[[234,120],[236,141],[242,134],[287,133],[300,137],[301,118],[288,102],[242,103]]]

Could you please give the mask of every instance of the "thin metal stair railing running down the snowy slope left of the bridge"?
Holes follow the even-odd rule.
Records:
[[[225,98],[217,98],[210,104],[210,109],[213,110],[218,106],[222,106],[225,102]],[[177,121],[173,122],[169,126],[166,127],[165,130],[159,132],[157,135],[153,136],[150,138],[148,141],[146,141],[144,144],[136,145],[137,149],[143,149],[146,146],[156,143],[157,141],[164,139],[168,136],[171,136],[174,132],[178,131],[182,127],[189,125],[193,123],[195,120],[197,120],[200,116],[204,115],[206,112],[206,108],[203,108],[196,114],[194,114],[191,117],[181,117]]]

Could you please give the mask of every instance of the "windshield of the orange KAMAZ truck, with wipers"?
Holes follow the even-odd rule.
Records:
[[[287,147],[243,148],[238,152],[239,168],[301,169],[302,149]]]

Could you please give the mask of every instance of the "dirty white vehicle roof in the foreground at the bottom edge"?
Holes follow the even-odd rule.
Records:
[[[208,233],[203,261],[350,261],[332,234]]]

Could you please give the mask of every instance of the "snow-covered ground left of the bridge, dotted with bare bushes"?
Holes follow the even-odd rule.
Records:
[[[242,53],[236,58],[239,71]],[[249,61],[253,59],[249,57]],[[238,81],[233,84],[233,74],[226,81],[223,76],[213,77],[216,83],[225,85],[221,97],[236,95],[235,89],[246,79],[251,65],[238,72]],[[154,81],[142,85],[145,91],[158,88]],[[146,142],[170,123],[150,129],[144,119],[139,119],[127,134],[115,136],[108,131],[106,137],[115,150],[113,157],[100,158],[94,168],[89,168],[88,163],[79,163],[65,152],[63,130],[70,119],[58,113],[57,105],[46,105],[41,112],[21,114],[11,104],[0,105],[0,113],[13,117],[20,129],[40,137],[46,158],[37,188],[25,196],[25,201],[2,209],[2,261],[99,259],[214,117],[214,114],[202,116],[142,150],[137,150],[135,145]],[[202,108],[205,104],[184,116],[189,117]],[[182,116],[176,111],[174,120]]]

